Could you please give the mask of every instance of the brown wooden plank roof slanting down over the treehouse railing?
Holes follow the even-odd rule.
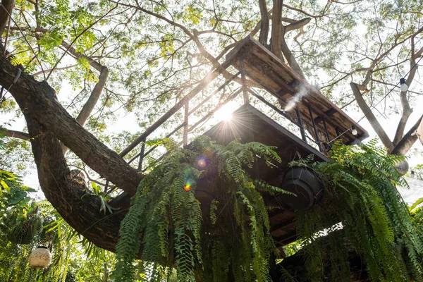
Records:
[[[345,144],[351,144],[369,136],[367,131],[356,124],[350,116],[324,97],[319,90],[309,85],[300,75],[295,73],[286,63],[281,62],[253,37],[248,36],[241,40],[228,53],[226,60],[226,63],[231,63],[240,71],[243,71],[240,65],[240,62],[243,61],[247,77],[257,83],[259,87],[277,97],[283,108],[288,105],[295,94],[305,91],[307,94],[300,97],[300,102],[298,102],[303,120],[311,123],[310,107],[314,122],[319,130],[324,130],[321,121],[323,119],[326,121],[331,139],[345,131],[345,134],[341,136]],[[349,130],[353,125],[358,131],[356,136],[351,134]]]

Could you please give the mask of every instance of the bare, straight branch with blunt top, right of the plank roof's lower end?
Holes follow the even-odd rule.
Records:
[[[358,106],[360,106],[360,109],[362,110],[363,114],[367,117],[367,120],[372,125],[372,128],[374,129],[374,131],[376,131],[376,134],[379,136],[384,146],[388,149],[388,152],[391,152],[393,149],[393,143],[389,139],[388,135],[386,135],[384,128],[382,128],[376,116],[374,116],[372,109],[370,109],[370,107],[364,101],[364,98],[362,97],[362,93],[360,92],[358,85],[355,82],[351,82],[350,86],[351,90],[353,90],[355,101],[357,101]]]

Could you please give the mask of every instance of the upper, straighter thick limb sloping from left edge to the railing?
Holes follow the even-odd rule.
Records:
[[[10,87],[18,67],[12,66],[4,56],[0,56],[0,69],[0,85]],[[142,176],[116,152],[82,128],[63,109],[47,82],[38,82],[32,76],[22,73],[18,82],[12,85],[10,93],[21,109],[27,109],[85,164],[130,195],[135,194]]]

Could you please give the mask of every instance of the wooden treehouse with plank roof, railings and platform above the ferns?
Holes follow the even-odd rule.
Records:
[[[199,104],[190,105],[190,99],[219,75],[225,77],[223,84]],[[197,109],[200,109],[213,95],[223,90],[226,85],[234,82],[241,84],[238,91],[233,92],[215,109],[190,125],[192,114]],[[148,128],[145,133],[142,133],[128,148],[123,150],[121,156],[125,156],[133,149],[138,148],[139,152],[133,155],[129,162],[137,159],[139,170],[145,171],[143,160],[157,148],[157,146],[152,146],[146,151],[145,141],[176,111],[185,107],[183,111],[184,121],[171,133],[168,133],[166,137],[171,137],[178,130],[183,130],[183,140],[180,144],[189,146],[188,133],[198,128],[221,106],[240,94],[243,95],[244,104],[233,112],[231,121],[221,121],[204,134],[222,145],[237,139],[241,142],[257,141],[274,146],[282,159],[281,163],[267,166],[263,161],[249,171],[254,178],[265,180],[271,185],[287,188],[284,186],[286,185],[284,176],[287,174],[290,161],[307,157],[310,154],[314,155],[316,161],[326,161],[325,154],[334,141],[342,140],[343,143],[349,145],[368,137],[366,130],[324,97],[319,90],[300,78],[262,44],[259,44],[252,37],[246,37],[226,56],[226,61],[221,66],[211,71],[197,85],[195,90],[192,90],[159,121]],[[268,101],[269,97],[273,99],[273,103]],[[276,106],[275,101],[278,106]],[[252,102],[255,106],[252,106]],[[266,111],[273,112],[274,118],[266,116],[262,111],[256,109],[256,106],[264,107]],[[299,176],[290,173],[294,180],[302,178],[301,174],[307,175],[307,172],[300,173]],[[313,191],[312,188],[304,188],[298,183],[291,183],[290,185],[292,186],[290,190],[300,194],[298,197],[263,195],[266,204],[275,207],[269,212],[269,221],[271,236],[276,246],[286,245],[295,240],[295,221],[293,221],[295,208],[312,209],[318,202],[325,204],[330,197],[321,190],[322,188]],[[198,199],[206,210],[209,208],[213,195],[207,194],[206,180],[200,181],[198,187],[200,188]],[[112,200],[111,205],[125,208],[129,205],[129,199],[130,195],[124,192]]]

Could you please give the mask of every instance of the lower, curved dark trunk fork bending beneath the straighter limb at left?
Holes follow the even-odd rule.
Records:
[[[119,226],[126,211],[106,215],[100,213],[99,199],[87,195],[86,184],[73,178],[59,140],[30,111],[23,111],[30,132],[39,185],[45,197],[75,231],[98,247],[114,252]]]

